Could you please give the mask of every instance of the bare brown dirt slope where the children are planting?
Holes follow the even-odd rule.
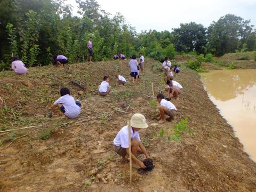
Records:
[[[157,123],[149,105],[151,82],[155,95],[165,86],[162,74],[149,70],[154,63],[147,59],[141,82],[125,87],[116,86],[114,74],[119,69],[128,77],[127,61],[36,67],[26,76],[1,73],[0,93],[6,106],[0,109],[1,130],[36,127],[0,133],[0,190],[256,191],[256,164],[207,97],[199,76],[182,67],[174,79],[183,92],[179,101],[172,102],[178,109],[176,121],[188,117],[191,131],[182,132],[180,142],[168,140],[175,138],[174,122]],[[97,86],[105,74],[113,90],[102,98]],[[50,102],[58,99],[59,79],[82,101],[77,119],[45,115]],[[85,94],[76,95],[81,90]],[[147,118],[149,127],[140,135],[155,169],[141,174],[133,168],[130,186],[129,164],[115,154],[113,139],[134,113]]]

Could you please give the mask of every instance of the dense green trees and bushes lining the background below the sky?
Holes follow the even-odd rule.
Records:
[[[209,27],[181,23],[172,31],[137,33],[121,13],[111,15],[95,0],[76,0],[78,13],[63,0],[2,0],[0,2],[0,70],[11,66],[17,55],[27,67],[51,63],[53,54],[64,54],[69,63],[89,57],[87,42],[93,37],[94,61],[126,57],[139,52],[155,60],[173,59],[176,54],[225,53],[256,50],[256,30],[250,20],[226,14]]]

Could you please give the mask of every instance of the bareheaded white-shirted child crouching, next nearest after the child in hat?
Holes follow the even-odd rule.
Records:
[[[158,119],[161,119],[159,123],[165,123],[165,115],[169,116],[167,118],[167,121],[171,121],[174,119],[174,116],[177,115],[177,109],[176,107],[170,102],[164,99],[164,95],[162,93],[159,93],[157,95],[157,101],[159,103],[159,111],[160,111],[160,117]]]

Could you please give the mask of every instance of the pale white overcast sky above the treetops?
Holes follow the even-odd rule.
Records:
[[[75,0],[67,2],[73,5],[73,12],[77,15]],[[120,12],[137,32],[149,29],[171,31],[180,23],[190,21],[208,27],[212,21],[228,13],[251,19],[251,25],[256,26],[256,0],[98,0],[98,3],[112,16]]]

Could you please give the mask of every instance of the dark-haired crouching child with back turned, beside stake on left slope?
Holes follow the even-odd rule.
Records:
[[[60,90],[61,97],[52,104],[52,112],[57,115],[55,108],[59,108],[61,114],[66,115],[69,118],[76,118],[81,112],[81,102],[75,101],[70,95],[70,91],[67,87],[62,87]]]

